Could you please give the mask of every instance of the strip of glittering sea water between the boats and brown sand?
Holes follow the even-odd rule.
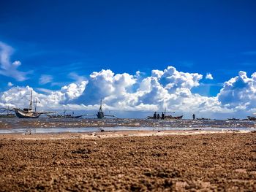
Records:
[[[251,120],[19,119],[1,118],[0,134],[58,134],[97,131],[255,131]],[[33,126],[37,125],[37,126]],[[83,126],[80,126],[83,125]],[[93,126],[92,126],[93,125]],[[40,127],[42,126],[42,127]]]

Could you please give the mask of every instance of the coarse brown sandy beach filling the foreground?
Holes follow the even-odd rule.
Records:
[[[0,191],[256,191],[255,133],[142,134],[0,135]]]

